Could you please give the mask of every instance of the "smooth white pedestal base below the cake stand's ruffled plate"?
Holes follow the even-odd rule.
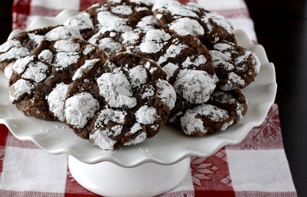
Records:
[[[156,196],[179,185],[190,168],[190,158],[173,165],[144,163],[133,168],[111,162],[85,164],[69,156],[69,169],[85,189],[103,196]]]

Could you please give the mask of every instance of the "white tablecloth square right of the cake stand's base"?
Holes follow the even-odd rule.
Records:
[[[295,191],[283,149],[228,150],[234,191]]]

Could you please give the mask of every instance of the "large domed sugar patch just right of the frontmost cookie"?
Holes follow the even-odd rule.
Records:
[[[173,87],[175,91],[192,104],[205,103],[215,89],[211,75],[205,71],[182,70]]]

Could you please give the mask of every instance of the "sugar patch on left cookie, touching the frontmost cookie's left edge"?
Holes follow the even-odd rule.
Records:
[[[60,121],[64,122],[64,101],[68,91],[68,86],[65,83],[59,83],[55,89],[46,97],[49,105],[49,110],[57,117]]]

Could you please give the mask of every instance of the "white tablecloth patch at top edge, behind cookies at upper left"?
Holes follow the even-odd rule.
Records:
[[[31,6],[45,7],[55,10],[79,10],[80,0],[31,0]]]

